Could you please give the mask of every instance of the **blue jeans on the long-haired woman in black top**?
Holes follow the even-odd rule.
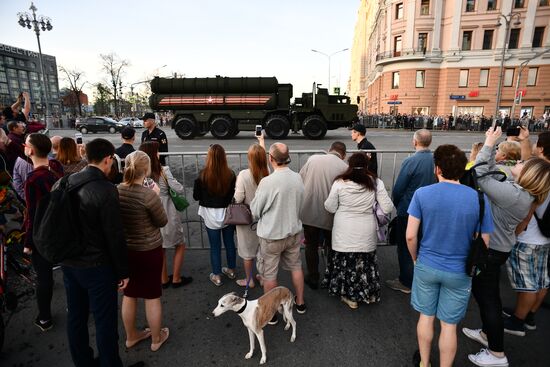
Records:
[[[227,226],[222,229],[210,229],[206,227],[208,242],[210,242],[210,264],[212,273],[222,273],[222,237],[227,257],[227,267],[235,269],[237,266],[237,250],[235,248],[235,226]]]

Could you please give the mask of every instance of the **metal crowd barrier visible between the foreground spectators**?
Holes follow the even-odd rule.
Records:
[[[348,156],[358,150],[348,151]],[[414,153],[411,150],[364,150],[364,152],[377,153],[378,176],[384,182],[388,192],[391,194],[393,185],[399,173],[401,163],[405,158]],[[290,168],[299,172],[307,159],[313,154],[326,153],[324,150],[293,150],[290,153],[292,162]],[[168,157],[170,170],[179,182],[185,187],[185,196],[190,205],[182,213],[182,221],[186,228],[187,238],[185,240],[188,248],[205,249],[209,248],[208,237],[204,230],[202,218],[198,213],[198,202],[193,200],[193,183],[198,177],[200,170],[204,167],[206,152],[191,153],[161,153]],[[227,162],[229,167],[238,174],[241,170],[248,168],[246,151],[227,151]],[[394,213],[392,213],[394,214]],[[379,244],[384,245],[384,244]]]

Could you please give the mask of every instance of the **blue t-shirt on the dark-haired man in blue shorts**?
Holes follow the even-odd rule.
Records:
[[[482,233],[493,231],[487,197]],[[420,219],[422,240],[418,261],[432,268],[463,273],[470,245],[479,227],[479,199],[474,189],[440,182],[416,190],[408,210]]]

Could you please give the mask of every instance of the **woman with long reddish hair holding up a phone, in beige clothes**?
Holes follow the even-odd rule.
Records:
[[[260,144],[252,144],[248,148],[248,169],[242,170],[237,176],[234,196],[236,203],[250,205],[250,202],[256,195],[260,180],[269,175],[267,169],[267,155],[263,145],[264,139],[263,136],[257,138]],[[248,283],[250,288],[254,288],[255,284],[252,271],[260,240],[258,239],[256,231],[252,230],[249,225],[238,225],[236,227],[237,250],[239,256],[243,259],[244,271],[246,274],[246,278],[238,279],[237,284],[241,287],[246,287]]]

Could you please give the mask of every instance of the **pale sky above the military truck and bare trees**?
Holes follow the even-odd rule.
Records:
[[[327,86],[328,58],[353,43],[360,0],[36,0],[37,14],[53,29],[40,36],[42,52],[57,65],[105,81],[100,54],[115,52],[130,62],[130,84],[153,75],[186,77],[276,76],[294,96],[312,83]],[[17,13],[30,1],[0,0],[0,43],[38,51],[33,31]],[[347,87],[351,50],[331,58],[331,87]],[[166,65],[166,66],[164,66]],[[164,66],[164,67],[163,67]],[[67,83],[59,74],[60,88]],[[136,87],[137,88],[137,87]],[[137,90],[137,89],[136,89]],[[84,91],[92,97],[91,87]]]

